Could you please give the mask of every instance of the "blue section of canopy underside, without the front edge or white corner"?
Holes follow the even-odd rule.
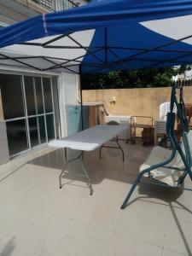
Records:
[[[106,44],[105,44],[106,43]],[[110,70],[169,67],[192,63],[192,45],[166,38],[139,23],[97,29],[90,49],[101,50],[96,56],[85,55],[83,73]],[[84,62],[95,67],[84,66]],[[96,67],[97,66],[97,67]]]

